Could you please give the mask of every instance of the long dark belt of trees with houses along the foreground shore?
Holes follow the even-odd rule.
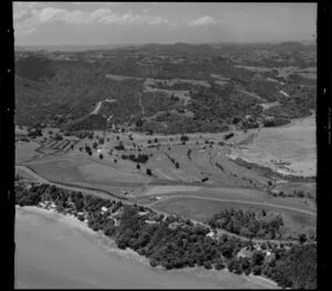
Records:
[[[284,246],[269,243],[272,254],[267,256],[255,250],[251,241],[226,235],[212,239],[207,236],[207,227],[176,216],[164,219],[164,215],[158,215],[156,224],[147,224],[146,217],[139,216],[138,211],[154,211],[143,206],[123,205],[122,201],[50,185],[34,185],[29,189],[15,186],[15,204],[32,206],[44,200],[53,201],[60,212],[64,209],[72,209],[75,215],[84,212],[90,228],[115,239],[118,248],[131,248],[145,256],[153,267],[178,269],[201,266],[216,270],[227,267],[235,273],[262,273],[282,288],[317,288],[315,245],[293,245],[286,249]],[[102,207],[108,209],[106,215],[101,212]],[[120,225],[115,226],[110,214],[120,216]],[[180,227],[170,228],[174,222],[180,224]],[[239,258],[238,253],[243,248],[250,251],[249,256]]]

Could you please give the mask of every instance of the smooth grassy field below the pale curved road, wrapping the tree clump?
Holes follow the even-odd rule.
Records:
[[[154,206],[154,208],[175,214],[184,217],[188,217],[198,221],[206,222],[212,215],[218,214],[226,208],[241,208],[251,210],[267,210],[273,212],[280,212],[283,217],[284,236],[297,237],[299,233],[310,233],[315,231],[317,219],[313,216],[305,214],[291,211],[287,209],[276,208],[271,206],[256,206],[238,202],[218,202],[211,200],[203,200],[195,198],[174,198],[169,200],[162,200]]]

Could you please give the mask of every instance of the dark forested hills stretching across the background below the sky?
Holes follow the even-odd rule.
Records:
[[[164,133],[251,128],[267,117],[284,124],[315,110],[315,54],[293,50],[304,46],[272,45],[263,55],[252,45],[222,54],[222,48],[186,43],[19,52],[15,122],[101,128],[113,116],[115,124],[139,121],[137,129]]]

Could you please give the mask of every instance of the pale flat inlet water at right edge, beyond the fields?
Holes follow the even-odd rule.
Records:
[[[291,125],[263,128],[248,149],[241,149],[241,157],[276,170],[283,172],[271,159],[290,162],[287,166],[298,176],[317,175],[315,118],[294,121]],[[287,174],[287,172],[284,172]]]

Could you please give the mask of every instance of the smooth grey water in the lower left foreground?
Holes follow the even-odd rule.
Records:
[[[273,288],[225,271],[156,270],[69,220],[33,207],[17,208],[15,288]]]

